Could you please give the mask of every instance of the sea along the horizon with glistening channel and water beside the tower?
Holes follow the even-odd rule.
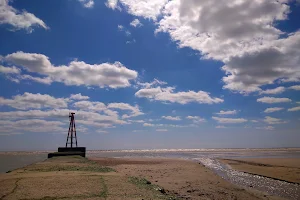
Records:
[[[0,173],[43,161],[47,159],[47,153],[0,152]],[[300,148],[90,150],[87,157],[186,159],[205,165],[233,184],[288,199],[300,199],[300,184],[239,172],[218,161],[218,158],[300,158]]]

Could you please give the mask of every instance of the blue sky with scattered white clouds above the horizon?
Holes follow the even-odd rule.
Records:
[[[300,147],[297,0],[0,0],[0,151]]]

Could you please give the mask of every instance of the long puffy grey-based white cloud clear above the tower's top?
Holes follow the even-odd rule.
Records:
[[[43,54],[24,52],[9,54],[5,60],[66,85],[123,88],[130,86],[130,81],[138,76],[136,71],[126,68],[120,62],[91,65],[83,61],[72,61],[68,66],[53,66]]]

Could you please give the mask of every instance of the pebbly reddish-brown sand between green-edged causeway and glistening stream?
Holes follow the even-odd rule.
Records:
[[[203,165],[180,159],[94,158],[123,176],[144,177],[180,199],[282,199],[233,185]]]

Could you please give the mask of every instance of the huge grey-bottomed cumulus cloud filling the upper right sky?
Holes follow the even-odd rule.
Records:
[[[156,2],[120,0],[134,16],[161,15],[156,33],[168,33],[180,48],[222,61],[224,89],[250,93],[277,80],[300,81],[300,32],[275,26],[288,18],[290,1],[166,0],[156,14],[144,11]]]

